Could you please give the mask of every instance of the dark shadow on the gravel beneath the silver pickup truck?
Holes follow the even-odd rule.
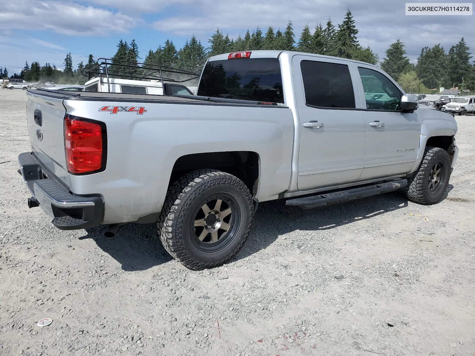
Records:
[[[452,188],[447,187],[444,199]],[[399,191],[310,210],[286,206],[285,200],[260,203],[247,242],[233,260],[247,258],[296,230],[318,234],[399,209],[408,209],[408,199]],[[159,242],[155,224],[121,225],[114,238],[105,237],[104,231],[104,225],[86,229],[80,239],[92,238],[124,271],[143,271],[172,260]]]

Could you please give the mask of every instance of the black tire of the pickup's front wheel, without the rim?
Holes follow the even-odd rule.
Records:
[[[432,174],[432,168],[437,162],[444,165],[441,178],[443,180],[439,183],[440,186],[434,192],[431,192],[428,181]],[[432,205],[438,203],[443,199],[447,189],[450,170],[450,156],[447,151],[438,147],[427,147],[424,150],[424,157],[418,170],[408,178],[408,185],[405,188],[406,196],[409,200],[419,204]]]

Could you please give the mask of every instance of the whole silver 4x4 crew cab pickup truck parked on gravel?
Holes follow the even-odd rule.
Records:
[[[210,57],[197,95],[28,90],[19,172],[59,229],[157,223],[190,269],[245,243],[258,202],[314,208],[405,189],[444,197],[453,115],[376,66],[287,51]],[[271,222],[270,222],[271,223]]]

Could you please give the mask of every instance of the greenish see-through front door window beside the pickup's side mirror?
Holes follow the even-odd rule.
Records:
[[[358,67],[363,83],[367,109],[399,110],[401,92],[386,76],[368,68]]]

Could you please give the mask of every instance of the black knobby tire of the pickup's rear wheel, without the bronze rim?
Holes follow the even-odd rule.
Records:
[[[193,240],[195,233],[190,224],[196,219],[197,207],[219,194],[235,200],[239,221],[233,222],[234,233],[227,236],[229,242],[221,250],[203,251]],[[219,266],[238,253],[246,242],[253,215],[252,196],[240,179],[215,169],[199,169],[181,177],[168,189],[157,230],[161,244],[174,259],[191,270],[202,270]]]

